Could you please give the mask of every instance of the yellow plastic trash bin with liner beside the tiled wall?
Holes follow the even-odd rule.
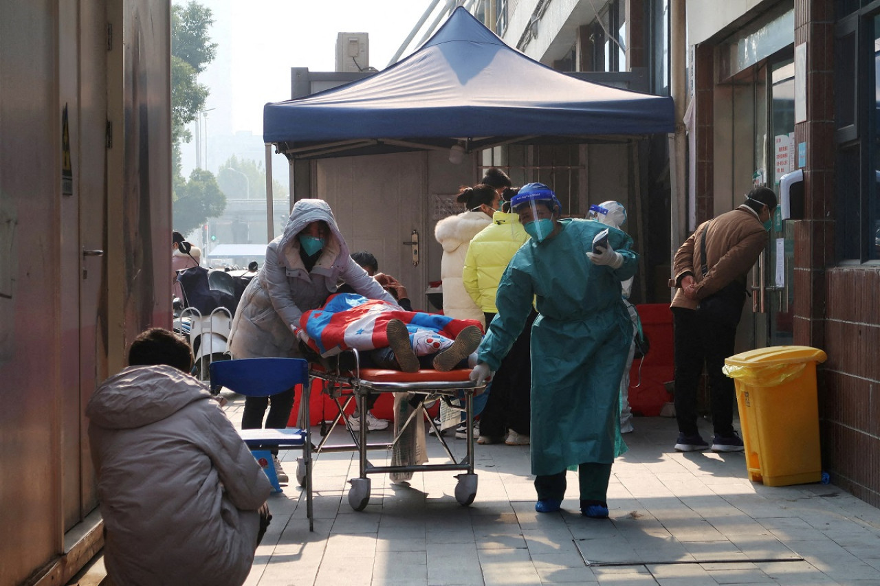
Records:
[[[821,480],[816,363],[825,358],[809,346],[773,346],[724,361],[737,386],[749,480],[768,487]]]

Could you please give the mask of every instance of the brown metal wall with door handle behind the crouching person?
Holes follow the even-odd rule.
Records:
[[[0,584],[101,546],[84,407],[170,325],[169,37],[150,0],[0,4]]]

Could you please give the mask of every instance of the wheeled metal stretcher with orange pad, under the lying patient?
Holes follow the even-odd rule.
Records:
[[[395,475],[406,477],[412,472],[427,471],[461,471],[462,473],[455,476],[458,484],[455,487],[456,500],[467,506],[473,502],[477,494],[477,475],[473,472],[473,395],[482,392],[486,388],[486,384],[476,384],[468,377],[470,370],[451,370],[449,372],[440,372],[437,370],[419,370],[418,372],[408,373],[400,370],[385,370],[361,368],[360,355],[356,350],[347,350],[354,357],[354,366],[350,370],[341,369],[338,364],[345,361],[334,361],[335,367],[313,363],[309,376],[313,380],[319,380],[324,383],[322,392],[326,392],[331,399],[334,400],[339,408],[338,414],[329,426],[329,429],[322,429],[320,443],[314,446],[313,451],[319,454],[321,451],[342,451],[353,450],[358,452],[359,475],[357,478],[348,480],[351,488],[348,490],[348,504],[352,509],[363,510],[367,503],[370,502],[370,474],[390,473],[392,480]],[[311,388],[311,385],[310,385]],[[396,421],[394,427],[392,441],[390,443],[369,443],[367,441],[367,425],[363,414],[367,413],[367,397],[370,393],[375,392],[391,392],[396,393],[395,405],[402,405],[401,401],[406,400],[410,408],[403,405],[403,409],[395,408],[395,417],[403,415],[404,421]],[[405,394],[404,394],[405,393]],[[460,400],[457,400],[460,399]],[[346,407],[351,400],[356,401],[358,413],[362,414],[362,425],[359,431],[352,431],[348,427],[348,418],[345,414]],[[369,450],[397,450],[401,447],[406,451],[407,446],[401,446],[402,442],[414,441],[415,433],[423,433],[422,429],[416,429],[416,426],[422,426],[422,414],[424,409],[418,407],[430,407],[437,401],[444,401],[448,407],[461,411],[466,416],[466,455],[464,458],[456,458],[452,454],[449,445],[446,443],[444,436],[440,433],[436,422],[431,417],[424,417],[429,421],[429,425],[435,431],[436,437],[440,440],[448,461],[445,463],[431,464],[414,464],[412,462],[395,465],[373,465],[367,457]],[[300,402],[301,406],[307,406],[308,400]],[[458,403],[463,403],[459,405]],[[307,408],[307,407],[306,407]],[[300,416],[303,416],[302,410]],[[301,420],[302,421],[302,420]],[[348,430],[352,438],[350,444],[327,445],[327,438],[330,432],[341,425]],[[324,427],[322,425],[322,427]],[[415,433],[414,433],[415,431]],[[325,433],[326,432],[326,433]],[[408,446],[411,447],[411,446]],[[317,458],[317,456],[316,456]],[[297,466],[297,480],[299,480]]]

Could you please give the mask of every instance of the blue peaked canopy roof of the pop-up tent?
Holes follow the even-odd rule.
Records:
[[[378,74],[263,108],[263,139],[290,157],[467,150],[672,132],[669,97],[570,77],[508,47],[464,8]]]

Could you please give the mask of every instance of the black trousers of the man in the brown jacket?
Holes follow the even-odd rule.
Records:
[[[737,328],[709,319],[696,311],[672,308],[675,347],[675,416],[678,431],[693,436],[697,431],[697,386],[706,367],[715,434],[733,433],[733,406],[736,388],[733,379],[722,372],[724,359],[732,356]]]

